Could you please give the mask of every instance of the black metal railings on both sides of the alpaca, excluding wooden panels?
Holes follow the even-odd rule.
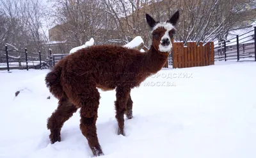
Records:
[[[52,54],[51,49],[47,53],[29,52],[0,49],[0,70],[49,68],[68,54]],[[256,27],[253,30],[236,35],[235,38],[214,44],[214,61],[256,61]],[[164,67],[173,65],[173,56],[170,54]]]

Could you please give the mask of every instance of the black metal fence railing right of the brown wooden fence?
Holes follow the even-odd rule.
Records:
[[[214,44],[215,61],[256,61],[256,27],[243,35]]]

